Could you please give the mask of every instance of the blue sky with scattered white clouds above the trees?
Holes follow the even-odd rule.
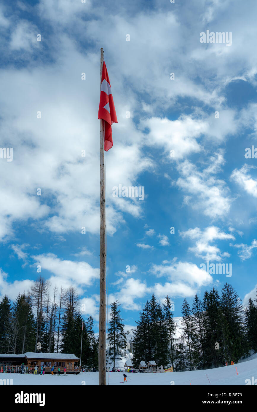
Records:
[[[0,297],[28,290],[40,265],[53,287],[77,288],[97,331],[100,47],[118,118],[106,154],[109,303],[121,302],[129,328],[152,293],[170,295],[174,316],[185,297],[226,281],[244,304],[255,297],[257,159],[245,148],[257,147],[256,9],[0,6],[1,147],[13,147],[12,162],[0,159]],[[232,33],[231,45],[201,43],[206,30]],[[145,199],[113,197],[119,184],[143,186]],[[207,260],[231,264],[232,276],[204,272]]]

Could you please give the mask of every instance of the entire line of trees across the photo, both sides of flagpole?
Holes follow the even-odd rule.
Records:
[[[40,277],[29,293],[19,293],[16,300],[5,295],[0,301],[0,353],[74,353],[82,365],[98,369],[98,340],[89,316],[82,331],[82,316],[75,288],[54,288],[49,297],[49,283]],[[107,359],[124,355],[127,337],[119,301],[111,303]],[[221,295],[213,288],[203,299],[195,295],[192,307],[182,304],[182,333],[176,334],[173,304],[167,295],[160,304],[154,294],[145,303],[133,331],[135,368],[140,361],[154,360],[174,371],[217,368],[235,363],[251,350],[257,352],[257,298],[249,298],[243,308],[236,290],[226,283]],[[107,365],[108,366],[108,365]]]

